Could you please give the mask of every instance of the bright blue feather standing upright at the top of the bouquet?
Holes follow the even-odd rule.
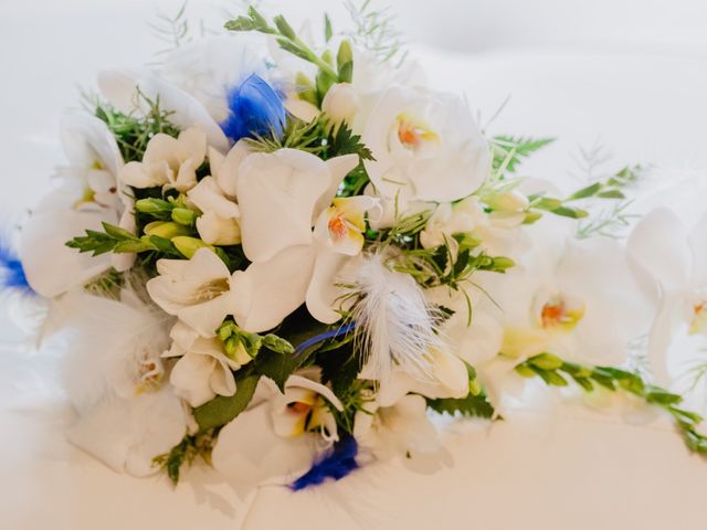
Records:
[[[285,126],[285,105],[281,95],[261,76],[252,74],[228,95],[229,117],[221,124],[225,136],[233,141],[267,136],[274,130],[282,136]]]

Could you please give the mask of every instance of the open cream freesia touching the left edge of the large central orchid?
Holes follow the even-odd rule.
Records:
[[[250,300],[241,287],[244,273],[231,274],[209,248],[199,248],[189,261],[160,259],[157,272],[147,283],[155,304],[202,337],[214,337],[226,315],[245,315]]]

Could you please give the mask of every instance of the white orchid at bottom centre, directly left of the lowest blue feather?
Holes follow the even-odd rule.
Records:
[[[305,473],[337,439],[328,406],[342,410],[334,393],[313,375],[291,375],[284,394],[270,385],[268,400],[225,425],[211,456],[214,469],[246,486],[288,481]]]

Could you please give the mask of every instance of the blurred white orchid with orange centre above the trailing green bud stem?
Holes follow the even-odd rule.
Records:
[[[605,239],[558,246],[536,248],[534,263],[489,287],[504,310],[500,352],[518,360],[551,352],[592,364],[623,361],[646,316],[624,250]]]

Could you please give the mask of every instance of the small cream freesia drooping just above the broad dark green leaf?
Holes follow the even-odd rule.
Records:
[[[177,395],[197,407],[217,395],[235,394],[233,372],[252,360],[247,353],[236,350],[229,357],[219,339],[199,337],[181,322],[175,325],[170,337],[172,347],[162,357],[179,357],[169,377]]]

